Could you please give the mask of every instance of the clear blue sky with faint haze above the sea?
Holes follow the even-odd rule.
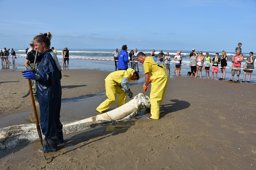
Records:
[[[255,0],[0,0],[0,48],[26,48],[51,32],[55,48],[256,53]],[[2,10],[6,11],[3,12]]]

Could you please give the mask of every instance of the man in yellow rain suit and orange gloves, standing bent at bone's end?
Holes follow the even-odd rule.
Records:
[[[160,105],[163,101],[169,81],[167,69],[156,57],[146,56],[142,52],[137,54],[137,59],[143,64],[145,70],[144,91],[147,91],[148,84],[152,81],[149,96],[151,103],[151,117],[147,117],[147,119],[159,119]]]

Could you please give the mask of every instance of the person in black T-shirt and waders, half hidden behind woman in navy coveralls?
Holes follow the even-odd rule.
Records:
[[[34,70],[32,71],[34,74],[36,74],[36,68],[39,65],[39,62],[35,62],[35,58],[36,58],[36,47],[34,46],[34,49],[27,53],[27,57],[26,57],[26,60],[24,63],[24,66],[26,67],[27,70],[32,70],[34,67]],[[34,66],[34,64],[35,64],[35,66]],[[34,99],[35,99],[35,104],[36,104],[36,106],[38,106],[39,102],[38,102],[38,95],[37,95],[37,90],[36,90],[36,81],[31,80],[31,85],[32,85]]]

